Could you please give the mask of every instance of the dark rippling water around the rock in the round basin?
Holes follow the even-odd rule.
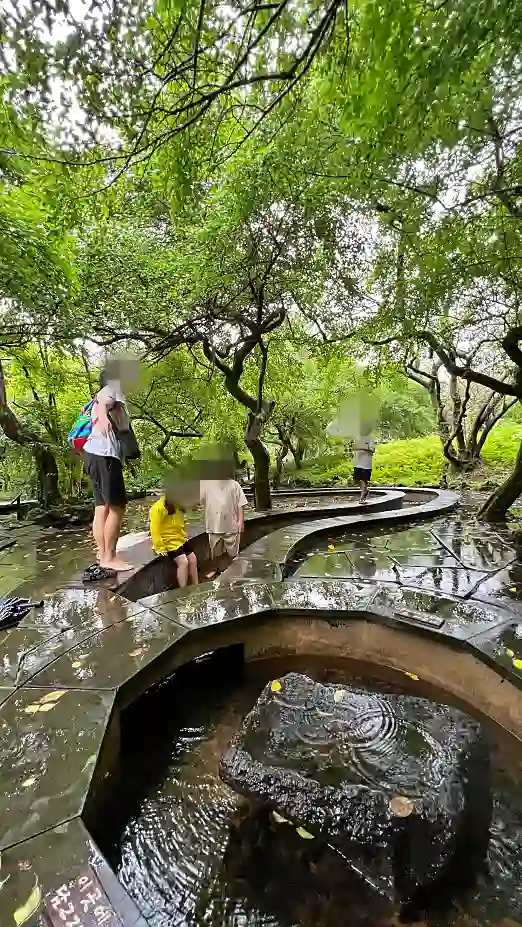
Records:
[[[347,664],[262,661],[244,673],[224,654],[185,667],[124,716],[119,823],[100,839],[119,878],[153,927],[380,927],[390,903],[328,847],[288,826],[244,828],[241,800],[218,776],[233,733],[270,679],[290,670],[372,692],[436,695],[418,684],[365,681]],[[522,922],[522,790],[519,745],[493,728],[489,876],[462,908],[433,923]],[[506,920],[508,919],[508,920]]]

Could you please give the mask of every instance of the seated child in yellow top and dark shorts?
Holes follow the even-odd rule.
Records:
[[[176,564],[178,586],[198,584],[198,561],[187,537],[183,506],[168,488],[149,514],[152,546],[157,554]]]

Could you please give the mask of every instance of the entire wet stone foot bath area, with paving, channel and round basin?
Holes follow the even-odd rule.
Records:
[[[1,927],[522,925],[519,546],[356,500],[281,493],[181,590],[143,533],[96,588],[87,543],[29,578],[10,542],[43,606],[0,635]]]

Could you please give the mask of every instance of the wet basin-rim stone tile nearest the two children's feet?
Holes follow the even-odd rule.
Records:
[[[176,590],[175,595],[166,593],[149,596],[157,599],[151,607],[166,618],[185,628],[201,628],[223,621],[232,621],[246,615],[270,611],[273,608],[270,585],[266,583],[236,583],[234,586],[219,586],[205,583],[202,586]]]

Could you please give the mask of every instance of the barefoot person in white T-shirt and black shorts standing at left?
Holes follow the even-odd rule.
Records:
[[[92,535],[98,563],[88,567],[84,579],[108,579],[131,570],[116,553],[121,523],[127,505],[123,477],[123,455],[115,427],[129,427],[125,396],[120,382],[120,365],[109,362],[101,375],[101,389],[92,410],[92,430],[84,446],[84,466],[94,493]]]

